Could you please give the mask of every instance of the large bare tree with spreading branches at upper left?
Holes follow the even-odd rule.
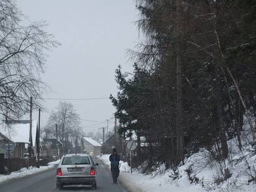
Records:
[[[27,113],[30,97],[39,105],[45,51],[60,45],[44,21],[28,22],[15,2],[0,1],[0,113],[7,118]]]

